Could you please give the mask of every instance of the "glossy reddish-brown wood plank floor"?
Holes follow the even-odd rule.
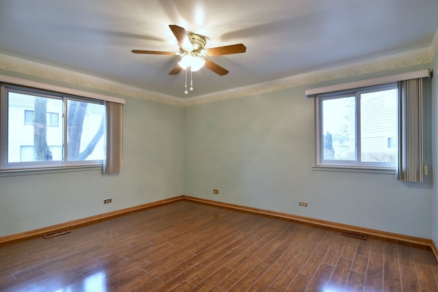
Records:
[[[430,248],[180,201],[0,248],[0,291],[438,291]]]

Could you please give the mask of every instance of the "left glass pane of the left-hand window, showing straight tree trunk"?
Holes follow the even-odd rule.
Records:
[[[47,127],[48,111],[62,114],[62,100],[8,93],[8,163],[62,159],[51,151],[62,148],[62,129]]]

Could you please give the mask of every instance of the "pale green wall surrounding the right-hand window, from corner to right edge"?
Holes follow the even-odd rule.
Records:
[[[429,176],[407,184],[395,174],[313,170],[313,99],[305,89],[186,108],[185,194],[430,238]]]

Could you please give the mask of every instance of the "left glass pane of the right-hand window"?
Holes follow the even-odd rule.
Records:
[[[356,159],[355,96],[322,101],[322,159]]]

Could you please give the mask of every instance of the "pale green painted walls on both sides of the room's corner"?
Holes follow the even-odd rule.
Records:
[[[313,99],[304,96],[307,88],[422,68],[428,66],[185,108],[126,98],[120,175],[89,170],[0,176],[0,236],[186,194],[437,240],[432,176],[419,185],[389,174],[312,169]],[[437,123],[434,115],[428,125]],[[104,198],[112,204],[104,206]],[[309,207],[298,207],[299,200]]]

